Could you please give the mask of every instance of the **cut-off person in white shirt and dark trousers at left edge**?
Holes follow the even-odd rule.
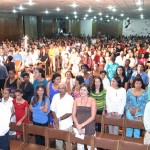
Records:
[[[11,110],[0,103],[0,149],[9,150],[9,123]]]

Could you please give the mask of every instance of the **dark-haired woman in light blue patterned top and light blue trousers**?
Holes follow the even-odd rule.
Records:
[[[133,88],[127,91],[126,117],[130,120],[142,120],[145,105],[148,101],[148,93],[144,90],[145,86],[140,76],[133,80]],[[140,129],[127,128],[126,136],[134,138],[140,137]]]

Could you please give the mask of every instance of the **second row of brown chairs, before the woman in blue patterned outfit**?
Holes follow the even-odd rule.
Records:
[[[103,113],[103,115],[96,115],[95,122],[101,124],[101,132],[96,133],[97,137],[113,139],[113,140],[124,140],[124,141],[143,144],[145,128],[144,128],[144,124],[142,121],[129,120],[125,116],[123,118],[112,118],[110,116],[107,116],[106,113]],[[107,130],[108,125],[119,126],[122,131],[121,134],[119,134],[119,135],[109,134],[108,130]],[[131,138],[131,137],[126,137],[125,136],[126,128],[141,129],[141,131],[142,131],[141,138],[135,139],[135,138]]]

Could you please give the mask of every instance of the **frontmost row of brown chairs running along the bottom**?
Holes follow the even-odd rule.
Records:
[[[83,140],[75,137],[74,133],[56,130],[54,128],[36,126],[32,124],[22,124],[21,126],[16,126],[15,123],[11,123],[10,130],[23,132],[23,141],[10,141],[11,150],[53,150],[55,148],[52,148],[50,143],[55,139],[65,141],[66,150],[72,150],[72,145],[74,143],[90,145],[91,150],[94,150],[95,147],[108,150],[150,150],[150,147],[147,145],[128,142],[122,139],[117,140],[106,137],[103,138],[102,136],[94,137],[86,135]],[[30,143],[29,136],[31,135],[44,136],[45,146]]]

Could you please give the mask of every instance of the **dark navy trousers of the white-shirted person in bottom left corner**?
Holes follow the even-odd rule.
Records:
[[[4,136],[0,136],[0,150],[10,150],[9,132],[7,132]]]

